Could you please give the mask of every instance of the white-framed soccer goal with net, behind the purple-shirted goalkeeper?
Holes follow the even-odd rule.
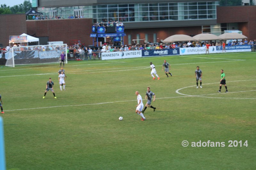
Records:
[[[66,55],[65,63],[68,63],[67,44],[12,47],[8,53],[5,53],[7,56],[5,66],[59,63],[62,51]]]

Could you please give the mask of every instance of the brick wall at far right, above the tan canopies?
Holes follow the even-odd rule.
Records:
[[[234,22],[238,23],[238,29],[249,41],[256,39],[256,6],[217,7],[217,23]]]

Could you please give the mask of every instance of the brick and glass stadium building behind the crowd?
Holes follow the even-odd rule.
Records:
[[[249,40],[256,39],[254,31],[256,6],[220,6],[218,0],[172,0],[163,3],[156,3],[153,0],[129,2],[37,0],[33,2],[36,2],[32,5],[37,7],[37,11],[42,12],[48,19],[27,21],[21,19],[17,24],[13,23],[15,19],[13,21],[14,17],[11,16],[7,16],[4,20],[12,21],[10,24],[13,27],[17,26],[20,30],[26,30],[27,34],[40,38],[40,44],[45,44],[47,41],[64,41],[68,44],[80,41],[87,46],[92,45],[90,33],[92,33],[93,23],[108,21],[124,23],[126,33],[124,44],[127,45],[132,44],[133,39],[160,42],[174,34],[220,35],[224,30],[240,30]],[[235,11],[240,11],[240,14],[234,17],[232,14]],[[68,19],[72,15],[74,19]],[[83,18],[75,18],[76,16],[83,16]],[[49,19],[50,17],[60,19]],[[8,36],[11,30],[6,32]],[[17,32],[19,29],[13,30]],[[8,38],[6,33],[2,32],[3,39]],[[20,32],[22,33],[24,31]],[[15,35],[19,34],[15,33]],[[106,38],[101,41],[110,40],[111,38]]]

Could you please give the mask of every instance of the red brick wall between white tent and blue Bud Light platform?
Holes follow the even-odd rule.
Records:
[[[71,40],[80,40],[86,45],[92,44],[90,33],[92,30],[91,18],[55,19],[27,21],[27,33],[37,37],[49,37],[49,41],[63,41],[69,44]]]

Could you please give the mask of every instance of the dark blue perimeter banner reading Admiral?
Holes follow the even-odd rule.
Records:
[[[179,48],[156,49],[156,50],[142,50],[142,56],[164,56],[164,55],[180,55]]]

